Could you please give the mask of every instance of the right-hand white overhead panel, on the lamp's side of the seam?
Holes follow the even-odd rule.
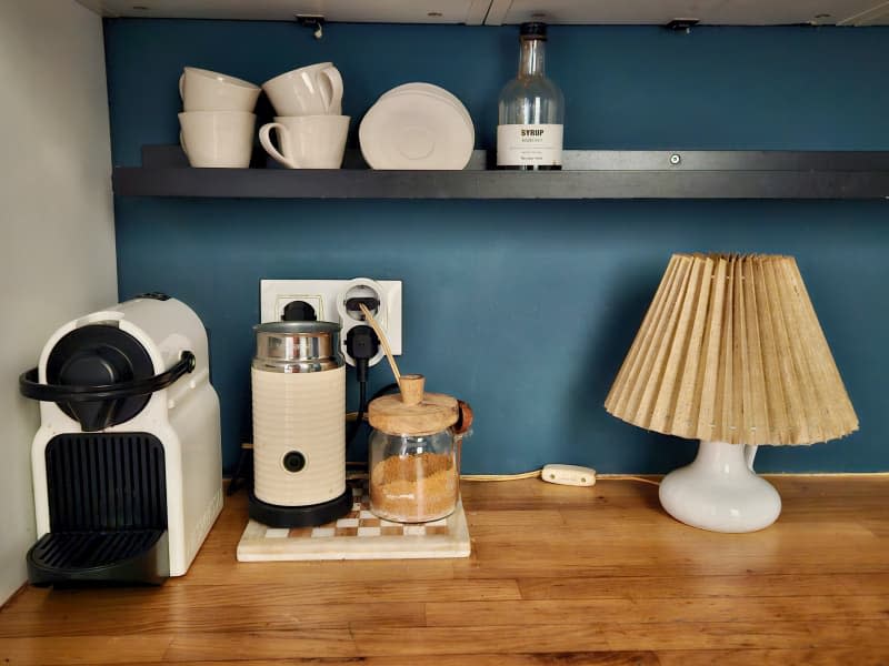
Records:
[[[835,24],[875,0],[492,0],[487,23],[655,24],[699,19],[712,26]]]

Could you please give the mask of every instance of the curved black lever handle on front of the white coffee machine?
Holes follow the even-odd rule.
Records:
[[[133,395],[148,395],[167,389],[179,377],[194,370],[194,354],[182,352],[181,357],[170,370],[132,382],[104,384],[100,386],[69,386],[66,384],[41,384],[38,372],[32,367],[19,376],[19,391],[24,397],[41,402],[96,402],[101,400],[117,400]]]

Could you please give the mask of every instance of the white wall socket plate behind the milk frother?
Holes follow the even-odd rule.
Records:
[[[349,330],[364,322],[353,317],[346,311],[346,300],[358,295],[376,294],[380,307],[373,319],[380,324],[392,354],[401,354],[401,281],[371,280],[354,278],[352,280],[260,280],[259,303],[260,321],[278,322],[284,306],[291,301],[304,301],[312,307],[319,321],[338,322],[342,325],[340,333],[340,351],[349,365],[354,361],[346,352],[346,335]],[[376,365],[383,357],[382,347],[370,360]]]

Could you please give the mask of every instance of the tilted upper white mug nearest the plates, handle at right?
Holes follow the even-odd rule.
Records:
[[[342,113],[342,77],[330,62],[286,72],[266,81],[262,90],[280,117]]]

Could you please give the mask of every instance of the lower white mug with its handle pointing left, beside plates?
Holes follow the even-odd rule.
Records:
[[[278,143],[271,131],[278,130]],[[339,169],[349,133],[348,115],[284,115],[259,129],[259,142],[288,169]]]

